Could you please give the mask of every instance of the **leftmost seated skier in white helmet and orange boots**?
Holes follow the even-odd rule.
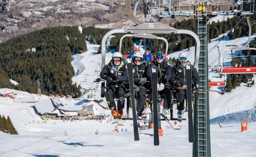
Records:
[[[126,94],[126,65],[122,60],[122,54],[115,52],[112,55],[112,60],[106,64],[101,73],[100,77],[107,81],[107,89],[105,91],[105,98],[107,105],[111,109],[114,121],[117,118],[121,119],[123,115],[124,100],[117,102],[117,108],[114,103],[114,95],[118,98],[123,97]]]

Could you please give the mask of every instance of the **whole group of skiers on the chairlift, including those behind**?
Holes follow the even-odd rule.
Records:
[[[185,65],[189,62],[187,53],[181,53],[178,56],[178,61],[174,67],[171,67],[167,62],[167,56],[163,53],[161,48],[156,49],[155,53],[152,53],[148,47],[145,49],[145,53],[142,54],[138,51],[137,47],[133,47],[130,57],[133,59],[133,80],[134,91],[137,100],[137,117],[142,119],[142,112],[146,102],[147,90],[150,92],[150,102],[152,104],[151,94],[151,66],[157,66],[158,68],[158,94],[161,95],[164,100],[163,115],[170,119],[169,108],[171,107],[173,97],[176,96],[178,120],[181,121],[184,111],[184,101],[187,97],[186,79],[185,79]],[[112,117],[114,119],[120,119],[123,116],[124,99],[117,102],[117,106],[114,102],[114,97],[117,99],[123,97],[127,93],[128,85],[128,72],[126,68],[126,62],[123,60],[120,52],[115,52],[112,55],[112,60],[106,64],[100,77],[107,82],[107,88],[105,91],[105,98],[107,105],[111,109]],[[192,82],[193,82],[193,97],[198,98],[199,88],[199,74],[197,69],[192,66]],[[179,89],[182,87],[183,89]],[[186,103],[187,104],[187,103]]]

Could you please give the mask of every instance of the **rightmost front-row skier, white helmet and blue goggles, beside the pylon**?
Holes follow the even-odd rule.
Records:
[[[172,77],[171,85],[174,88],[184,87],[187,88],[185,82],[185,66],[188,61],[187,53],[181,53],[178,55],[178,62],[176,63],[176,66],[174,66],[171,70],[172,75],[175,77]],[[194,89],[194,97],[195,99],[198,99],[198,88],[199,88],[199,74],[197,72],[197,69],[191,65],[192,67],[192,88]],[[176,89],[176,102],[177,102],[177,109],[178,109],[178,121],[181,122],[183,117],[183,110],[184,110],[184,100],[187,98],[187,92],[185,89]],[[187,103],[186,103],[187,104]],[[193,102],[192,102],[192,108],[193,108]]]

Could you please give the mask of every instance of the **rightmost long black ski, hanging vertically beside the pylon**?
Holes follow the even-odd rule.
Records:
[[[194,128],[192,115],[192,66],[190,62],[186,64],[186,85],[187,85],[187,111],[188,111],[188,141],[194,142]]]

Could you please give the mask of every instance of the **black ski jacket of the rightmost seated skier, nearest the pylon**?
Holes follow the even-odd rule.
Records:
[[[194,86],[196,84],[200,83],[199,80],[199,74],[197,72],[197,69],[191,64],[191,72],[192,72],[192,81],[194,83]],[[172,75],[174,75],[174,77],[172,77],[171,79],[171,84],[174,84],[174,81],[180,81],[180,82],[186,82],[186,74],[185,74],[185,67],[181,66],[181,64],[179,64],[179,61],[176,62],[176,65],[171,69],[171,73]]]

